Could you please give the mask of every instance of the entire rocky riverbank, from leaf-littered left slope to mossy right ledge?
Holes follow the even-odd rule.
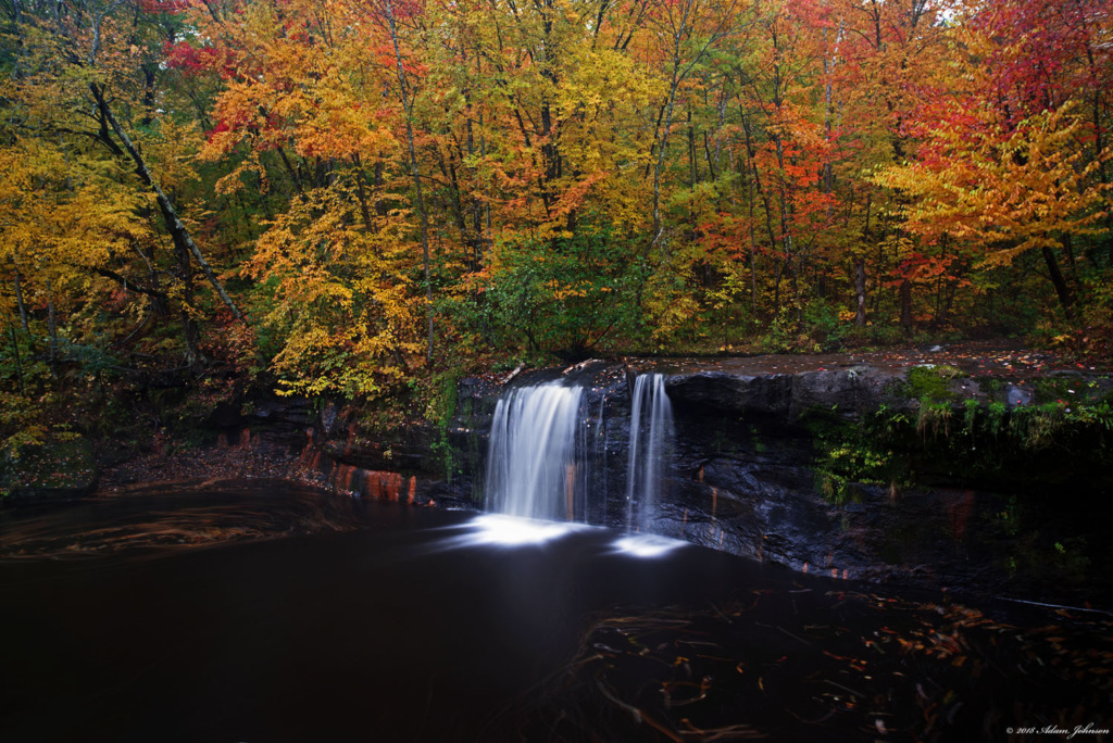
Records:
[[[677,435],[646,512],[652,531],[801,573],[1105,605],[1113,379],[1082,366],[971,343],[520,367],[452,378],[435,419],[391,427],[357,405],[255,396],[195,418],[188,435],[97,442],[96,497],[284,478],[483,508],[500,394],[562,379],[583,390],[575,517],[624,526],[631,380],[660,374]]]

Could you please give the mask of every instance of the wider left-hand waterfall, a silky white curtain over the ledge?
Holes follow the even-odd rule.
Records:
[[[572,521],[585,517],[582,387],[551,382],[499,398],[487,448],[487,511]]]

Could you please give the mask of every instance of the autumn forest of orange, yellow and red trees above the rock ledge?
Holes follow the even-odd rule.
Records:
[[[1113,340],[1103,0],[4,0],[0,68],[9,444],[158,375]]]

